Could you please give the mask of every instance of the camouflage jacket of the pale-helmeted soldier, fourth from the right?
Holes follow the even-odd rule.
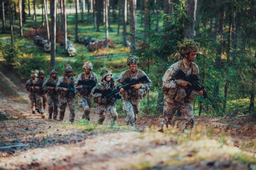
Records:
[[[79,80],[95,80],[97,82],[97,75],[94,72],[91,72],[90,76],[87,77],[85,72],[82,72],[76,77],[75,89],[78,90],[78,95],[91,97],[91,89],[84,89],[83,85],[77,85]]]

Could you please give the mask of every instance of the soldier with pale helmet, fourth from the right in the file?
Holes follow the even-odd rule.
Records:
[[[87,85],[78,85],[79,80],[88,81],[88,80],[94,80],[97,82],[97,76],[94,72],[91,72],[93,70],[93,64],[91,62],[86,62],[83,65],[84,72],[79,74],[76,77],[76,83],[75,83],[75,89],[78,90],[78,105],[79,107],[83,108],[83,119],[87,119],[90,121],[90,108],[91,108],[91,87],[88,87]]]

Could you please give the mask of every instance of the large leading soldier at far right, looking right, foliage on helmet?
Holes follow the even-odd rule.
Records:
[[[182,42],[178,41],[178,47],[181,50],[182,60],[172,64],[168,70],[163,75],[163,85],[162,90],[164,93],[164,107],[163,116],[164,119],[161,120],[159,127],[162,131],[164,124],[172,123],[176,110],[179,110],[182,117],[185,119],[186,123],[183,129],[192,129],[194,126],[195,117],[193,115],[192,101],[195,99],[197,92],[193,90],[189,96],[185,92],[186,86],[189,82],[181,79],[173,79],[173,75],[178,71],[182,70],[185,74],[199,75],[199,67],[193,62],[196,60],[196,54],[199,51],[199,44],[192,39],[183,39]],[[200,95],[203,95],[203,91],[198,91]]]

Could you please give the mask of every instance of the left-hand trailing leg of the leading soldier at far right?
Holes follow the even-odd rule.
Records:
[[[168,125],[171,124],[173,121],[177,108],[178,108],[177,104],[173,104],[165,101],[163,106],[163,119],[161,120],[158,127],[163,128],[164,125],[168,127]],[[160,131],[162,131],[162,129]]]

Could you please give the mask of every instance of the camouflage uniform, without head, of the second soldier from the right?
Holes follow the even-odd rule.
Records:
[[[134,75],[131,74],[130,70],[125,70],[120,74],[117,80],[117,86],[120,86],[121,84],[123,84],[125,78],[138,79],[143,75],[146,75],[146,73],[139,69]],[[127,114],[126,122],[128,125],[132,125],[132,126],[135,125],[137,114],[139,113],[139,110],[140,110],[140,102],[142,98],[146,96],[147,91],[151,87],[152,82],[148,78],[148,76],[147,76],[147,79],[149,82],[140,82],[142,86],[138,90],[132,88],[129,90],[124,90],[121,93],[122,100],[123,100],[123,111],[126,112]]]

